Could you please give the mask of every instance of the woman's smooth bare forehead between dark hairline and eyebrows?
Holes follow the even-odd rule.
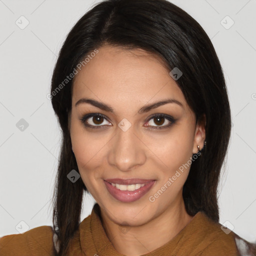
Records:
[[[173,97],[186,104],[182,91],[159,56],[142,49],[113,46],[100,47],[75,75],[72,104],[83,96],[109,103],[118,99],[123,104]]]

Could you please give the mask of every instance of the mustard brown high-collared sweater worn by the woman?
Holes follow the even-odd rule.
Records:
[[[222,228],[223,229],[223,228]],[[224,232],[221,224],[198,211],[170,241],[143,256],[238,256],[235,233]],[[227,234],[228,233],[228,234]],[[22,234],[0,238],[0,256],[53,255],[51,226],[38,226]],[[237,235],[236,235],[237,236]],[[55,244],[57,248],[57,244]],[[113,247],[100,220],[100,208],[94,204],[70,241],[68,256],[125,256]]]

